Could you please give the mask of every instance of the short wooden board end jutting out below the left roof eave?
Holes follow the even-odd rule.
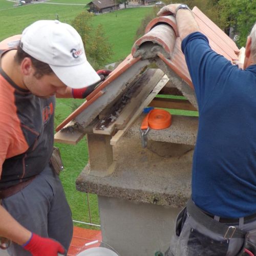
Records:
[[[62,130],[54,134],[54,142],[76,145],[84,134],[79,132],[74,121],[70,121]]]

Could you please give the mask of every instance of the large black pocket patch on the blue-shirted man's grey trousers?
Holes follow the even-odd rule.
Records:
[[[225,256],[228,240],[217,241],[191,228],[187,242],[187,256]]]

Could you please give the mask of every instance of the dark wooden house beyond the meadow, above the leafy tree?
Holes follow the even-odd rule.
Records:
[[[90,6],[90,12],[104,13],[119,9],[119,4],[118,0],[94,0],[88,5]]]

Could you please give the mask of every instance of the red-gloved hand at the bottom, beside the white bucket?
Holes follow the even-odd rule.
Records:
[[[50,239],[42,238],[32,233],[31,238],[23,245],[33,256],[57,256],[58,252],[64,254],[65,249],[60,243]]]

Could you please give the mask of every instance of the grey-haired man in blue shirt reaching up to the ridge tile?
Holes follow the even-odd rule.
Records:
[[[256,24],[245,52],[253,63],[242,70],[210,48],[186,5],[168,5],[159,14],[167,12],[176,16],[199,106],[192,197],[167,255],[254,255]]]

